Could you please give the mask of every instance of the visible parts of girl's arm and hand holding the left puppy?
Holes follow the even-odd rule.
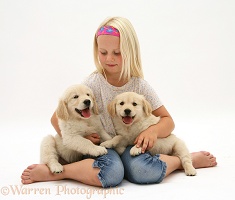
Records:
[[[54,129],[56,130],[56,132],[60,135],[60,137],[62,137],[61,130],[60,130],[60,127],[58,124],[58,118],[56,116],[56,112],[54,112],[51,117],[51,124],[54,127]],[[92,133],[92,134],[86,136],[85,138],[87,138],[88,140],[90,140],[94,144],[100,143],[100,136],[97,133]]]

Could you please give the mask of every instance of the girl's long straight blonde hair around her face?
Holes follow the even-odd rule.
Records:
[[[113,26],[118,29],[120,33],[120,51],[122,55],[122,71],[120,79],[124,78],[130,80],[131,77],[144,78],[139,41],[130,21],[122,17],[111,17],[104,20],[98,27],[97,31],[102,26]],[[94,36],[93,45],[95,65],[97,71],[102,74],[104,73],[104,69],[99,62],[96,34]]]

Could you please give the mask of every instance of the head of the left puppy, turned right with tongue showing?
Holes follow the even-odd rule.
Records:
[[[69,87],[62,96],[58,108],[58,118],[67,120],[71,118],[88,119],[91,111],[98,114],[93,92],[85,85]]]

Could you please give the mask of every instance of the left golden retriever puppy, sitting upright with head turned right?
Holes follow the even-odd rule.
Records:
[[[82,155],[100,156],[107,149],[93,144],[85,136],[98,133],[101,141],[112,137],[101,124],[93,92],[85,85],[69,87],[59,100],[56,109],[62,137],[46,136],[41,143],[41,163],[47,164],[52,173],[61,173],[59,157],[68,163],[82,159]]]

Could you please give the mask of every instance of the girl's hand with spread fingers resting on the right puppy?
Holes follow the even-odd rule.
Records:
[[[153,147],[153,145],[157,141],[157,134],[153,132],[151,127],[143,131],[139,134],[139,136],[135,139],[134,144],[136,147],[142,147],[141,153],[145,153],[146,150],[149,150]]]

